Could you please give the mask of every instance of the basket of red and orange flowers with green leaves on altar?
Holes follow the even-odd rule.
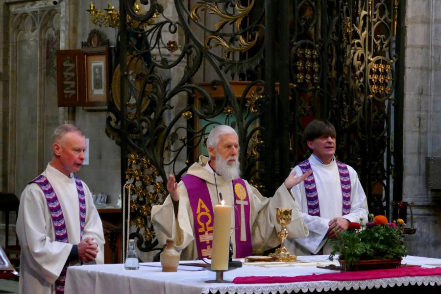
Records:
[[[407,255],[407,248],[403,245],[404,227],[405,223],[401,219],[389,222],[385,216],[374,217],[369,214],[366,226],[351,222],[338,239],[330,241],[333,249],[329,259],[333,260],[336,254],[340,254],[339,260],[344,260],[348,265],[363,260],[400,260]]]

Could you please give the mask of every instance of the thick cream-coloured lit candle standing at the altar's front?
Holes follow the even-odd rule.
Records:
[[[228,270],[230,249],[231,206],[215,205],[213,228],[213,251],[211,253],[212,270]]]

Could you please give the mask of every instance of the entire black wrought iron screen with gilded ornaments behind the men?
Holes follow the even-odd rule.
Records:
[[[149,213],[167,174],[179,179],[219,123],[239,134],[243,177],[272,196],[308,156],[304,126],[331,121],[337,156],[357,170],[369,208],[389,214],[402,181],[396,0],[175,0],[166,10],[162,2],[141,0],[140,13],[134,0],[120,1],[121,19],[139,22],[120,25],[126,107],[115,125],[122,182],[145,185],[130,207],[141,250],[156,245]]]

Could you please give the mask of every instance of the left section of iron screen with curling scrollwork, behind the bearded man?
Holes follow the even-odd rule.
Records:
[[[123,73],[124,85],[120,86],[120,89],[128,88],[123,99],[126,115],[122,118],[126,124],[126,136],[122,139],[127,143],[127,151],[148,160],[157,172],[155,180],[158,184],[167,181],[168,172],[179,179],[194,162],[196,154],[201,152],[200,146],[209,128],[227,123],[237,129],[241,138],[240,160],[245,177],[253,176],[258,181],[257,163],[263,142],[256,138],[261,131],[258,120],[266,98],[262,87],[264,83],[255,80],[233,89],[226,74],[237,77],[260,65],[263,48],[254,49],[253,46],[256,42],[263,42],[261,33],[264,26],[259,24],[263,19],[263,9],[256,8],[254,0],[246,6],[238,0],[199,1],[190,12],[183,1],[176,0],[178,19],[171,19],[157,1],[141,5],[139,12],[133,9],[133,2],[123,1],[128,17],[139,25],[125,26],[125,31],[120,32],[133,36],[127,39],[126,57],[120,58],[126,60],[127,68]],[[198,21],[197,13],[203,10],[221,17],[220,23],[213,29]],[[254,15],[257,19],[244,22],[252,10],[256,10]],[[153,22],[155,12],[158,15]],[[206,32],[207,38],[199,40],[196,30]],[[179,37],[178,31],[184,33],[184,38]],[[163,40],[175,41],[164,43]],[[221,45],[223,52],[214,50],[213,44]],[[152,56],[149,62],[144,58],[147,54]],[[242,57],[238,59],[235,54],[242,54]],[[203,80],[195,78],[202,62],[214,73],[214,78],[206,86],[201,85]],[[171,71],[176,68],[181,68],[181,71],[175,72],[177,74],[173,75],[171,82]],[[213,97],[211,93],[214,91],[221,96]],[[181,99],[187,102],[180,103]],[[143,106],[146,101],[147,108]],[[220,120],[220,116],[223,119]],[[117,126],[118,120],[113,125]],[[248,147],[253,150],[252,160],[249,161]],[[135,181],[142,180],[140,171],[127,170],[126,174]],[[162,198],[143,194],[143,190],[154,189],[153,182],[143,185],[142,189],[140,187],[132,191],[132,194],[139,195],[142,202],[130,207],[132,225],[137,227],[132,237],[136,235],[139,239],[137,245],[140,250],[150,251],[156,244],[153,243],[149,211]],[[140,235],[140,230],[144,230],[144,236]]]

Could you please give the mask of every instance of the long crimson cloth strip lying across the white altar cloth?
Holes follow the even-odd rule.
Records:
[[[334,273],[322,273],[303,276],[249,276],[236,277],[235,284],[270,284],[270,283],[295,283],[311,281],[357,281],[396,277],[416,277],[441,275],[441,268],[425,269],[420,267],[405,267],[389,270],[359,270]]]

